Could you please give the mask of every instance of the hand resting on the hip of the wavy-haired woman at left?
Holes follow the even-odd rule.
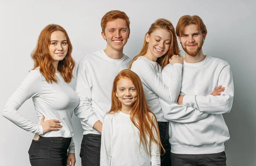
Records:
[[[49,131],[58,131],[61,126],[61,121],[56,120],[56,119],[51,119],[44,121],[44,116],[41,118],[41,126],[43,127],[43,134],[49,132]]]

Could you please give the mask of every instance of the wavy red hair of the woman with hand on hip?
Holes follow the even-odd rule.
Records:
[[[34,60],[33,70],[40,67],[40,72],[43,74],[47,82],[58,82],[58,77],[55,75],[55,70],[52,65],[52,57],[49,53],[51,34],[53,31],[62,31],[67,38],[67,55],[63,60],[58,62],[57,70],[60,72],[64,81],[69,83],[73,78],[73,70],[75,68],[75,61],[71,56],[73,47],[67,32],[60,25],[49,24],[41,31],[37,45],[31,53],[31,57]]]

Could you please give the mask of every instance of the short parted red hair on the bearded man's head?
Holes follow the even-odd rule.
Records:
[[[199,16],[185,15],[185,16],[180,17],[180,19],[177,23],[177,26],[176,26],[177,36],[178,37],[182,36],[184,33],[184,28],[190,24],[195,24],[197,26],[197,30],[199,32],[201,32],[202,34],[204,34],[204,33],[207,34],[206,26],[204,25],[203,20]]]

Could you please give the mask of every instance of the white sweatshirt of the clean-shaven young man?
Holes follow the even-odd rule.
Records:
[[[121,59],[111,59],[101,50],[79,62],[76,79],[79,106],[75,115],[81,119],[83,135],[100,134],[93,125],[96,121],[103,122],[109,112],[113,80],[121,70],[128,68],[130,61],[125,54]]]

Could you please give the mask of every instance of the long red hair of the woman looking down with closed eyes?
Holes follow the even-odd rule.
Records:
[[[173,27],[172,23],[169,20],[166,19],[158,19],[153,24],[151,24],[150,28],[148,29],[148,32],[145,34],[145,38],[147,34],[151,34],[156,29],[164,29],[166,31],[169,31],[171,34],[171,43],[169,50],[161,57],[157,58],[157,63],[164,68],[166,65],[169,64],[169,59],[173,55],[179,55],[180,48],[177,42],[177,37],[175,35],[175,28]],[[143,46],[141,48],[140,53],[134,57],[134,59],[131,60],[131,63],[128,67],[128,69],[131,69],[132,63],[140,56],[145,55],[145,53],[148,51],[148,42],[146,42],[144,38]]]

